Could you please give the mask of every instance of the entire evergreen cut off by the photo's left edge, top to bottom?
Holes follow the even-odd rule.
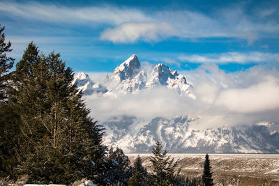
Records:
[[[0,24],[0,178],[9,176],[15,178],[14,168],[17,165],[17,134],[18,127],[15,125],[15,112],[7,102],[7,91],[10,86],[8,72],[13,67],[15,59],[7,56],[11,52],[10,42],[5,42],[5,27]]]

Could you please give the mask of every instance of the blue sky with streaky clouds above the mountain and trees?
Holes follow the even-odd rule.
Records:
[[[112,72],[132,54],[234,72],[278,68],[278,10],[278,1],[1,1],[0,24],[17,61],[33,40],[75,72]]]

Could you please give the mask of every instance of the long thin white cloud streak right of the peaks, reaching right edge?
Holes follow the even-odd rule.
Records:
[[[179,60],[190,63],[264,63],[278,62],[279,54],[226,52],[221,54],[181,55]]]

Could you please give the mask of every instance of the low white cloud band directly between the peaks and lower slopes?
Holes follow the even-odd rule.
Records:
[[[179,101],[189,100],[173,94],[168,88],[159,87],[152,90],[142,91],[137,95],[123,95],[119,98],[96,96],[85,97],[89,107],[101,120],[117,115],[138,116],[152,118],[154,116],[172,117],[174,113],[186,114],[179,105]]]

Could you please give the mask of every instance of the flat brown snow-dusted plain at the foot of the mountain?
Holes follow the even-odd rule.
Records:
[[[137,154],[127,154],[130,161]],[[169,154],[179,160],[182,173],[190,178],[202,175],[205,154]],[[150,167],[151,154],[140,154]],[[279,185],[279,154],[209,154],[214,183],[217,185]]]

